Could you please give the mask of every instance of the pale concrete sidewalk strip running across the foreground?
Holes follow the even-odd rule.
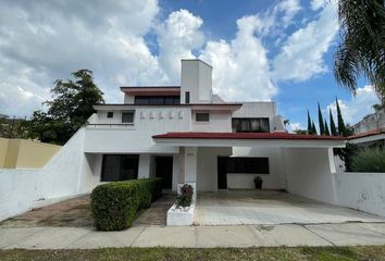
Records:
[[[385,223],[132,227],[96,232],[84,227],[0,228],[0,249],[102,247],[277,247],[385,245]]]

